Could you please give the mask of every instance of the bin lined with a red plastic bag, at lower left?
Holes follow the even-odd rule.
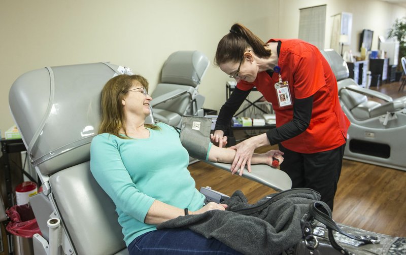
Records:
[[[15,205],[6,210],[10,222],[6,230],[14,235],[14,254],[34,254],[32,236],[41,234],[40,227],[29,204]]]

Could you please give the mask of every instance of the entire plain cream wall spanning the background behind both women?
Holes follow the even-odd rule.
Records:
[[[306,2],[306,4],[303,4]],[[377,0],[87,0],[0,2],[0,130],[14,123],[8,91],[24,72],[77,63],[111,61],[145,76],[151,91],[163,62],[177,50],[199,50],[213,61],[218,41],[234,22],[264,41],[296,38],[299,8],[327,4],[327,16],[353,13],[353,33],[388,29],[404,8]],[[327,17],[326,41],[329,40]],[[358,40],[353,34],[353,40]],[[350,47],[357,45],[353,41]],[[329,41],[326,42],[329,45]],[[373,45],[373,48],[376,47]],[[353,50],[354,51],[354,50]],[[211,65],[199,91],[205,107],[219,110],[229,78]]]

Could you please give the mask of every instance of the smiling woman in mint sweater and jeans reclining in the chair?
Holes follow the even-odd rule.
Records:
[[[130,254],[240,254],[189,229],[156,229],[172,218],[225,210],[227,205],[205,205],[187,169],[189,155],[179,133],[164,123],[145,123],[152,99],[147,90],[148,81],[138,75],[119,75],[107,82],[101,93],[99,135],[91,143],[91,172],[117,207]],[[212,144],[209,148],[210,161],[234,159],[234,150]],[[282,163],[281,154],[254,154],[252,163],[272,165],[274,155]]]

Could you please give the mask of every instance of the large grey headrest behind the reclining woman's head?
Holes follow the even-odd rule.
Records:
[[[26,72],[9,92],[11,114],[33,165],[48,175],[90,159],[101,89],[117,65],[91,63]]]

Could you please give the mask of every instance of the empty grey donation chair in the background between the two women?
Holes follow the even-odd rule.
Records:
[[[209,63],[199,51],[177,51],[167,58],[151,94],[155,122],[180,128],[183,115],[204,116],[205,97],[197,89]]]

